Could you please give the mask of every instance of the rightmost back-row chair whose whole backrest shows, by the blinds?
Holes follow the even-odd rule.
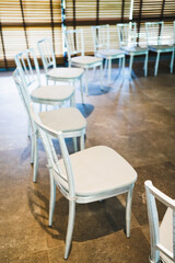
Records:
[[[161,22],[147,22],[145,32],[147,32],[147,43],[151,52],[156,53],[155,69],[154,76],[158,75],[160,55],[162,53],[172,53],[171,58],[171,73],[173,73],[173,64],[174,64],[174,46],[163,44],[163,21]]]

